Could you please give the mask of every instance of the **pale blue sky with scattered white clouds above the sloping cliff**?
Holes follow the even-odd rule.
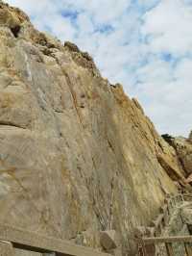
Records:
[[[192,130],[192,0],[7,0],[138,98],[159,133]]]

